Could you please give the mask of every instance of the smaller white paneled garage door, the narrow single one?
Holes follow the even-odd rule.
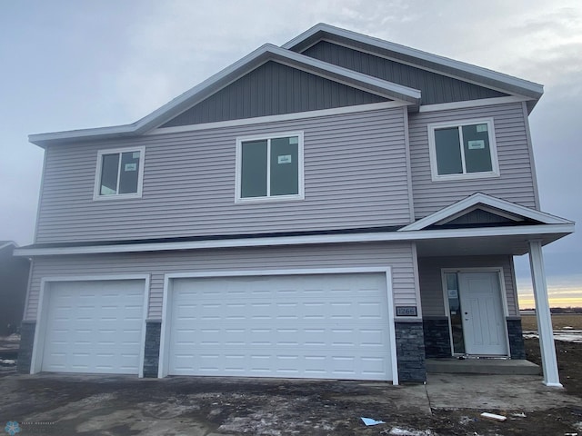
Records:
[[[42,371],[138,374],[143,280],[52,282]]]

